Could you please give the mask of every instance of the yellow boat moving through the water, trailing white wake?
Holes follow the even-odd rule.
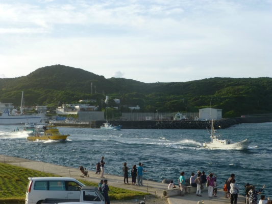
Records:
[[[61,134],[56,126],[48,125],[43,131],[34,131],[34,135],[27,138],[29,141],[35,140],[66,140],[70,134]]]

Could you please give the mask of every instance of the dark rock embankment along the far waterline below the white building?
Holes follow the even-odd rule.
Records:
[[[224,129],[235,124],[239,122],[229,118],[213,121],[215,129]],[[206,127],[211,128],[210,121],[158,121],[155,125],[149,126],[150,129],[205,129]]]

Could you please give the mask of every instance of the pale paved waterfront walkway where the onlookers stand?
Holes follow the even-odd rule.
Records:
[[[34,169],[37,171],[43,171],[46,173],[53,173],[56,175],[60,175],[63,177],[73,177],[76,179],[83,179],[87,180],[89,182],[99,183],[101,178],[98,174],[95,174],[94,171],[89,171],[90,177],[82,178],[81,172],[77,168],[71,168],[71,167],[65,167],[60,166],[56,164],[49,164],[45,162],[37,162],[32,160],[26,160],[24,158],[18,158],[13,156],[6,156],[6,155],[0,155],[0,162],[1,163],[7,163],[15,166],[20,166],[24,168]],[[141,192],[147,192],[151,193],[153,195],[162,196],[163,190],[168,188],[168,184],[162,184],[158,182],[151,182],[149,180],[143,180],[143,187],[140,186],[133,186],[133,185],[125,185],[123,184],[123,177],[122,176],[116,176],[112,174],[104,174],[105,177],[107,177],[109,186],[114,186],[118,188],[133,190],[133,191],[141,191]],[[129,178],[129,182],[131,178]],[[169,204],[196,204],[199,200],[204,200],[204,203],[208,204],[221,204],[221,203],[230,203],[229,199],[225,198],[225,192],[218,190],[217,197],[210,199],[208,197],[208,192],[203,192],[203,197],[195,196],[194,193],[192,194],[186,194],[184,197],[181,196],[175,196],[175,197],[169,197],[167,200]],[[238,204],[244,203],[244,197],[238,196]]]

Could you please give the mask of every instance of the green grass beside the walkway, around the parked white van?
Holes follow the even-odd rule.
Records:
[[[10,164],[0,163],[0,204],[5,203],[24,203],[26,189],[29,182],[28,177],[58,177],[59,175],[44,173],[23,167],[17,167]],[[87,186],[95,186],[96,183],[80,180]],[[110,186],[109,196],[111,200],[132,199],[135,196],[147,195],[138,191]]]

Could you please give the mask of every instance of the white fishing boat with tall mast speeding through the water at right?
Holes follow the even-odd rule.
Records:
[[[207,128],[209,131],[209,129]],[[213,122],[211,125],[211,131],[210,133],[210,138],[211,142],[205,142],[203,143],[203,147],[206,149],[247,149],[250,145],[249,139],[245,139],[241,142],[233,143],[229,139],[224,139],[222,138],[222,135],[220,132],[214,130],[213,128]]]

